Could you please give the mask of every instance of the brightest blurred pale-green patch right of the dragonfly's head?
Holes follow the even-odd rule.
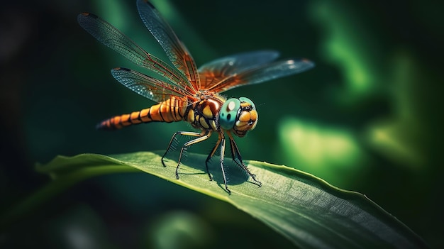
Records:
[[[355,135],[346,128],[284,118],[279,123],[279,140],[281,153],[290,165],[328,182],[340,184],[365,165]]]

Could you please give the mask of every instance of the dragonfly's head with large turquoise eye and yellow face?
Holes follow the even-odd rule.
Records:
[[[256,106],[245,97],[227,99],[219,112],[219,123],[224,130],[231,130],[235,135],[243,137],[247,131],[256,127]]]

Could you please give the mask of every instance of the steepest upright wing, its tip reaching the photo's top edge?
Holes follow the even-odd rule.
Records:
[[[187,77],[194,89],[199,90],[200,81],[196,62],[185,45],[149,1],[138,0],[137,7],[143,23],[165,50],[172,64]]]

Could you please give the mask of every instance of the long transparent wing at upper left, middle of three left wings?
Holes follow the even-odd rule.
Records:
[[[102,18],[91,13],[81,13],[77,16],[77,21],[94,38],[125,56],[131,62],[160,74],[172,84],[177,86],[184,84],[191,87],[191,84],[181,72],[154,55],[150,55]]]

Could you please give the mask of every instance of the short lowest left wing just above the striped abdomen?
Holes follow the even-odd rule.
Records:
[[[128,87],[145,98],[159,103],[170,99],[171,96],[178,96],[179,98],[190,96],[187,90],[181,86],[168,84],[159,79],[127,68],[114,68],[111,70],[111,74],[113,74],[113,77],[125,87]]]

